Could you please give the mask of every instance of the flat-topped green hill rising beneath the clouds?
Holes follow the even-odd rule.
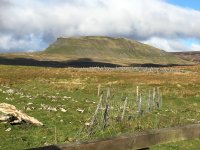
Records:
[[[44,53],[73,59],[89,58],[120,65],[188,63],[163,50],[137,41],[99,36],[58,38]]]

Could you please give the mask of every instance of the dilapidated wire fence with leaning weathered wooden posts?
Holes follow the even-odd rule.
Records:
[[[92,134],[94,130],[105,129],[113,122],[129,121],[162,108],[162,92],[159,87],[153,87],[147,91],[137,86],[134,95],[130,97],[123,94],[120,99],[115,98],[111,93],[111,87],[103,91],[99,85],[97,92],[99,102],[90,123],[87,124],[88,133]]]

